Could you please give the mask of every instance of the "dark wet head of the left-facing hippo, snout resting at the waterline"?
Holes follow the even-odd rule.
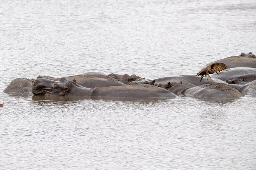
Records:
[[[69,82],[65,78],[61,78],[59,81],[54,81],[50,79],[38,78],[35,80],[32,86],[32,93],[36,96],[44,95],[58,95],[64,96],[66,89],[64,85]]]

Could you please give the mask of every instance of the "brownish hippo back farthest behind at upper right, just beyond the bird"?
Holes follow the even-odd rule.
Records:
[[[248,54],[241,53],[239,56],[227,57],[224,59],[219,59],[214,62],[221,62],[227,65],[227,68],[234,67],[250,67],[256,68],[256,56],[252,52]],[[210,65],[214,62],[211,62],[207,65]]]

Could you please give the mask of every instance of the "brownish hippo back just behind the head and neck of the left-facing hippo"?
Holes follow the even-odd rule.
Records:
[[[65,77],[66,79],[72,81],[76,79],[76,83],[86,87],[86,88],[96,88],[96,87],[108,87],[108,86],[119,86],[119,85],[125,85],[122,82],[117,81],[116,79],[113,79],[109,76],[104,75],[77,75],[77,76],[69,76]],[[58,81],[60,78],[55,79],[55,81]]]

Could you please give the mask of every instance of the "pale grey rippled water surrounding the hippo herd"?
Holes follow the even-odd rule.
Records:
[[[255,0],[0,1],[0,169],[255,170],[256,98],[52,100],[17,77],[159,77],[256,53]]]

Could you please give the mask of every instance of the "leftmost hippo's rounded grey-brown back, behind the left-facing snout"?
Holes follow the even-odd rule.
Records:
[[[9,94],[32,95],[31,88],[34,79],[16,78],[3,91]]]

